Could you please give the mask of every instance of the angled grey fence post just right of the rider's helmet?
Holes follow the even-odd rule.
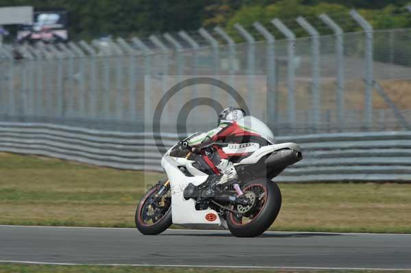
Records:
[[[247,41],[247,74],[248,74],[248,101],[249,109],[253,109],[253,93],[254,91],[254,74],[256,73],[256,39],[239,23],[234,24],[234,27],[240,32],[242,38]]]

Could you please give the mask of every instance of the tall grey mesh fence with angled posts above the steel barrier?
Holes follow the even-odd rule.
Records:
[[[321,36],[299,17],[307,37],[273,19],[270,26],[237,24],[242,42],[216,27],[146,40],[3,47],[0,120],[150,131],[173,83],[203,75],[236,88],[277,135],[410,129],[411,29],[374,30],[355,11],[347,17],[363,31],[344,33],[322,14],[334,34]],[[201,94],[232,104],[215,87],[193,86],[183,96]],[[171,126],[163,131],[175,133],[180,109],[166,107],[161,122]],[[188,131],[209,129],[214,117],[210,107],[195,108]]]

